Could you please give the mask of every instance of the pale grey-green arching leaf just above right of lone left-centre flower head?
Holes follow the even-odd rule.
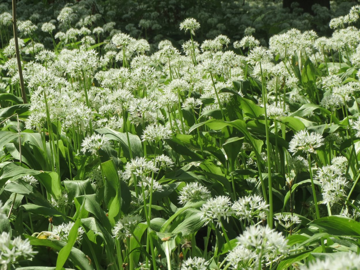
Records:
[[[95,131],[98,132],[99,134],[104,134],[109,139],[120,142],[121,147],[124,151],[124,155],[127,158],[130,158],[129,145],[127,143],[126,133],[118,132],[118,131],[115,131],[112,129],[107,129],[107,128],[96,129]],[[133,158],[142,157],[143,156],[143,147],[141,145],[140,138],[137,135],[129,133],[129,141],[130,141],[130,146],[131,146],[132,157]]]

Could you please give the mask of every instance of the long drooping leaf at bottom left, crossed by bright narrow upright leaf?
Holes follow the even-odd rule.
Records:
[[[50,240],[50,239],[37,239],[36,237],[31,237],[25,235],[26,238],[30,240],[32,246],[45,246],[53,248],[56,251],[60,251],[66,243],[60,240]],[[79,249],[72,247],[69,259],[75,264],[79,269],[82,270],[93,270],[94,268],[89,264],[89,260],[86,258],[85,254]]]

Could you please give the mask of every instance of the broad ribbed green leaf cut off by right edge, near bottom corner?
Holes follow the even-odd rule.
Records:
[[[309,223],[331,235],[360,237],[360,222],[344,216],[329,216]]]

